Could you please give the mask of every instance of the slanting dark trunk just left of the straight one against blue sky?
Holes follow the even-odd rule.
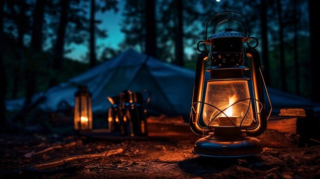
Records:
[[[63,68],[64,37],[65,37],[66,24],[68,22],[67,12],[70,6],[70,0],[61,0],[60,6],[61,6],[60,22],[59,22],[57,42],[55,46],[54,61],[53,61],[53,69],[58,73]],[[57,83],[58,83],[57,79],[52,77],[50,80],[49,87],[52,87]]]

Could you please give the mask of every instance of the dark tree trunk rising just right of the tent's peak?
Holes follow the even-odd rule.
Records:
[[[155,0],[146,2],[146,54],[156,57]]]

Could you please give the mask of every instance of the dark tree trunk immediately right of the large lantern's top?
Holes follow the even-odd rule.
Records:
[[[268,49],[268,32],[267,32],[267,3],[261,0],[261,36],[262,36],[262,59],[266,66],[264,68],[264,80],[267,86],[270,86],[270,66],[269,66],[269,49]]]

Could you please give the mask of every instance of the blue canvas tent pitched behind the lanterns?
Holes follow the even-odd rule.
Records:
[[[34,99],[45,96],[41,108],[55,111],[65,100],[73,106],[74,93],[78,85],[87,85],[93,94],[93,110],[107,112],[110,103],[107,96],[117,95],[123,90],[151,92],[148,112],[168,116],[189,118],[195,71],[171,65],[129,49],[119,56],[91,68],[86,72],[59,84]],[[273,112],[279,108],[310,107],[320,111],[319,104],[301,96],[269,88]],[[7,101],[7,109],[19,109],[24,99]]]

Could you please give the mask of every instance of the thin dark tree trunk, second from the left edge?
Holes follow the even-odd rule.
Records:
[[[25,66],[25,49],[24,49],[24,35],[25,35],[25,12],[26,12],[26,2],[21,0],[19,17],[17,18],[18,26],[18,53],[17,60],[19,69],[22,69]],[[17,70],[20,71],[20,70]],[[12,98],[17,98],[18,88],[19,88],[19,79],[20,73],[16,73],[13,78],[13,89],[12,89]]]

